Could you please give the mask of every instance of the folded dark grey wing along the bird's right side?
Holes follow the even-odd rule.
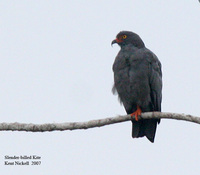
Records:
[[[161,101],[162,101],[162,71],[161,63],[157,56],[149,51],[148,52],[149,61],[149,85],[150,93],[153,104],[153,111],[161,111]]]

